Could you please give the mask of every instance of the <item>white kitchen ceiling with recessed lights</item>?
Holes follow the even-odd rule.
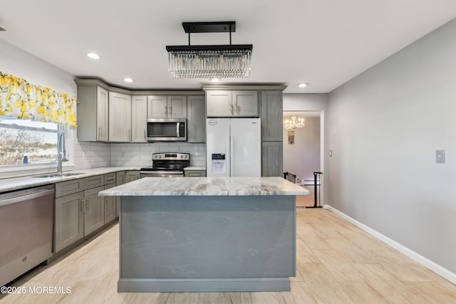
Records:
[[[456,17],[455,0],[0,0],[0,7],[0,39],[73,75],[133,90],[211,84],[167,71],[165,46],[188,43],[182,21],[236,21],[232,43],[253,44],[250,77],[219,84],[328,93]],[[229,44],[229,34],[192,34],[197,44]]]

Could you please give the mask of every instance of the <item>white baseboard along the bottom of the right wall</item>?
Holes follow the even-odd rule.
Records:
[[[341,218],[343,218],[343,219],[346,219],[351,224],[357,226],[359,229],[366,231],[368,234],[371,234],[371,236],[375,237],[376,239],[383,241],[383,243],[386,243],[387,245],[395,248],[397,251],[404,253],[405,256],[412,258],[414,261],[420,263],[421,265],[425,266],[426,268],[430,269],[431,271],[434,271],[435,273],[437,273],[438,275],[447,279],[451,283],[456,284],[456,273],[452,273],[451,271],[447,270],[447,268],[443,268],[442,266],[438,265],[437,263],[430,261],[428,258],[421,256],[420,254],[416,253],[415,251],[410,250],[409,248],[401,245],[400,243],[388,238],[388,236],[384,236],[383,234],[380,234],[378,231],[375,231],[375,230],[369,228],[365,224],[362,224],[361,222],[356,221],[356,219],[353,219],[350,216],[343,214],[341,211],[338,211],[337,209],[335,209],[327,204],[325,204],[323,206],[323,208],[333,211],[335,214],[337,214],[338,216],[341,216]]]

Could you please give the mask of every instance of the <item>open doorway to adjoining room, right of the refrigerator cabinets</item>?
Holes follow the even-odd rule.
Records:
[[[296,207],[314,206],[314,197],[320,201],[320,174],[317,174],[315,193],[314,172],[321,172],[321,112],[284,111],[283,119],[292,116],[304,118],[304,127],[286,130],[284,127],[284,172],[295,176],[294,182],[311,194],[296,196]]]

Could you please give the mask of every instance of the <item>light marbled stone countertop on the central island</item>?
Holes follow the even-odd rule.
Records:
[[[307,195],[281,177],[145,177],[103,190],[101,196]]]

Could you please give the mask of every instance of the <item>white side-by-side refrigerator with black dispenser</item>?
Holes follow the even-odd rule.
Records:
[[[208,177],[261,176],[259,118],[207,118]]]

